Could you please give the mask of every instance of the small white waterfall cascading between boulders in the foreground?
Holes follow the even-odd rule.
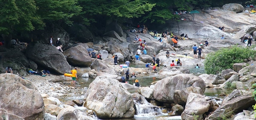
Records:
[[[162,114],[158,106],[151,105],[145,97],[140,95],[140,100],[134,100],[136,106],[136,114],[139,116],[152,116]]]

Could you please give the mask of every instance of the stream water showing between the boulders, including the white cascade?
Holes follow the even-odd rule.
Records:
[[[122,64],[122,63],[120,63]],[[145,65],[134,65],[131,64],[130,67],[134,68],[145,68]],[[184,66],[183,66],[184,67]],[[163,66],[160,66],[160,69],[162,69]],[[184,68],[187,68],[190,70],[190,74],[194,75],[201,75],[204,74],[204,67],[201,68],[195,68],[195,66],[185,66]],[[147,74],[147,75],[137,75],[136,78],[130,78],[128,81],[129,84],[133,85],[135,83],[135,80],[139,80],[140,86],[146,87],[146,86],[151,86],[152,82],[158,81],[159,79],[156,79],[157,74]],[[90,83],[94,80],[95,78],[82,78],[79,77],[79,82],[76,86],[76,88],[84,88],[84,90],[87,90],[89,87]],[[69,81],[56,81],[56,83],[69,83]],[[64,84],[65,86],[71,86],[70,84]],[[130,93],[136,93],[137,89],[128,89],[128,92]],[[213,88],[206,88],[204,95],[208,96],[209,98],[212,98],[213,101],[216,103],[221,103],[222,99],[224,97],[219,96],[220,93],[227,93],[225,90],[219,88],[219,87],[213,87]],[[85,91],[84,91],[85,93]],[[84,93],[69,93],[66,96],[59,97],[58,99],[61,102],[66,102],[66,101],[72,101],[75,99],[80,99],[84,100]],[[134,118],[120,118],[116,120],[156,120],[159,117],[165,117],[168,120],[181,120],[181,116],[169,116],[167,113],[162,113],[161,108],[156,107],[151,105],[146,99],[141,96],[142,101],[136,104],[136,113],[137,115],[134,116]],[[136,101],[135,101],[136,102]],[[77,107],[77,109],[81,111],[87,110],[85,107]]]

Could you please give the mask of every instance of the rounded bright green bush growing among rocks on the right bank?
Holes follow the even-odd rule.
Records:
[[[207,74],[216,74],[224,69],[233,69],[234,63],[242,63],[244,59],[255,56],[256,51],[248,48],[238,46],[222,48],[208,54],[204,66]]]

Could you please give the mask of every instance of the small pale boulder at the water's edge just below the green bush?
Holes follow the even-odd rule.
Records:
[[[217,75],[208,75],[208,74],[202,74],[199,75],[198,77],[202,78],[205,82],[205,84],[218,84],[218,80],[220,80],[220,78]]]

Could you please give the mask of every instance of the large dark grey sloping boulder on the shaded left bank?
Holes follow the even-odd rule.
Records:
[[[38,65],[59,74],[69,73],[71,69],[64,55],[55,46],[32,42],[27,46],[26,56]]]

